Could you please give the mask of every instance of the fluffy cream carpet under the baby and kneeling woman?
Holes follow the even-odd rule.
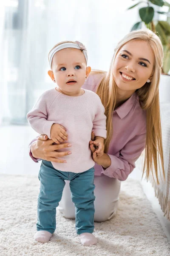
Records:
[[[170,256],[161,224],[138,181],[122,182],[117,215],[95,223],[96,246],[83,247],[74,220],[57,212],[57,230],[48,244],[34,241],[39,180],[0,175],[0,256]]]

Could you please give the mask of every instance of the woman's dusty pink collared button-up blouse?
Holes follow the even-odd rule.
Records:
[[[96,92],[102,74],[91,74],[82,88]],[[113,112],[113,136],[109,144],[108,155],[111,166],[103,169],[95,163],[95,175],[102,174],[118,180],[126,180],[135,168],[135,161],[145,148],[146,111],[139,105],[136,93]],[[31,141],[30,145],[35,141]],[[30,151],[31,158],[37,162]]]

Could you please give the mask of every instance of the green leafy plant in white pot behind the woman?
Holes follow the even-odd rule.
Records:
[[[140,21],[135,23],[131,31],[141,29],[142,26],[146,26],[153,32],[156,32],[164,49],[164,62],[162,67],[161,79],[159,84],[159,98],[160,102],[170,102],[170,3],[163,0],[146,0],[139,1],[133,6],[129,7],[132,9],[138,5],[146,3],[145,7],[139,9]],[[154,9],[154,6],[159,6],[159,11]],[[162,12],[161,7],[168,6],[167,12]],[[158,9],[158,8],[157,8]],[[153,20],[155,13],[166,15],[166,21],[164,20]]]

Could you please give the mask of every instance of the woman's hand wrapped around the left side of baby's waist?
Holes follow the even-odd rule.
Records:
[[[71,154],[71,151],[56,152],[56,150],[71,147],[71,144],[63,143],[52,145],[53,143],[54,141],[48,139],[47,135],[40,135],[37,141],[31,145],[31,153],[33,157],[56,163],[67,163],[66,160],[58,159],[58,157],[67,156]]]

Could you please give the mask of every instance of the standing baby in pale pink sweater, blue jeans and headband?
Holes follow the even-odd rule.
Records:
[[[94,160],[89,141],[94,130],[96,154],[102,156],[106,138],[105,108],[99,96],[82,89],[91,72],[86,48],[78,41],[64,41],[48,55],[48,75],[57,87],[45,91],[27,119],[39,134],[54,143],[70,143],[71,151],[56,162],[42,160],[39,172],[40,194],[37,206],[37,233],[34,239],[48,242],[56,228],[56,207],[62,198],[65,180],[70,180],[75,205],[75,224],[84,246],[97,243],[94,232]]]

